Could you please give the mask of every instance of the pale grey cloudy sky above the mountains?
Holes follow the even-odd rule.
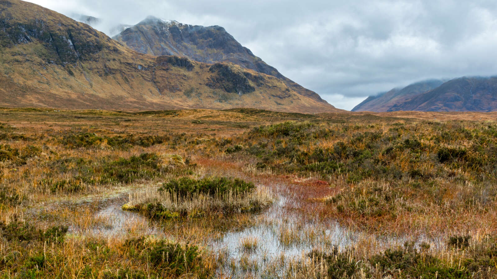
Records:
[[[220,25],[282,74],[350,110],[427,78],[497,74],[495,0],[31,0],[107,23]],[[101,26],[108,33],[109,26]]]

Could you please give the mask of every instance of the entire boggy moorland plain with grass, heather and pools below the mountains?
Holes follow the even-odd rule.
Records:
[[[492,113],[1,109],[0,278],[495,278],[496,174]]]

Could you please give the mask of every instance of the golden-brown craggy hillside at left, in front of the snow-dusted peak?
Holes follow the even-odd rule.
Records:
[[[142,54],[21,0],[0,1],[0,62],[4,107],[337,111],[275,76],[232,63]]]

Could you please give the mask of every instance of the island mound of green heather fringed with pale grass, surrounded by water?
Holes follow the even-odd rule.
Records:
[[[271,198],[253,183],[236,178],[172,179],[158,191],[131,197],[123,206],[158,218],[201,217],[208,214],[255,212],[267,208]]]

